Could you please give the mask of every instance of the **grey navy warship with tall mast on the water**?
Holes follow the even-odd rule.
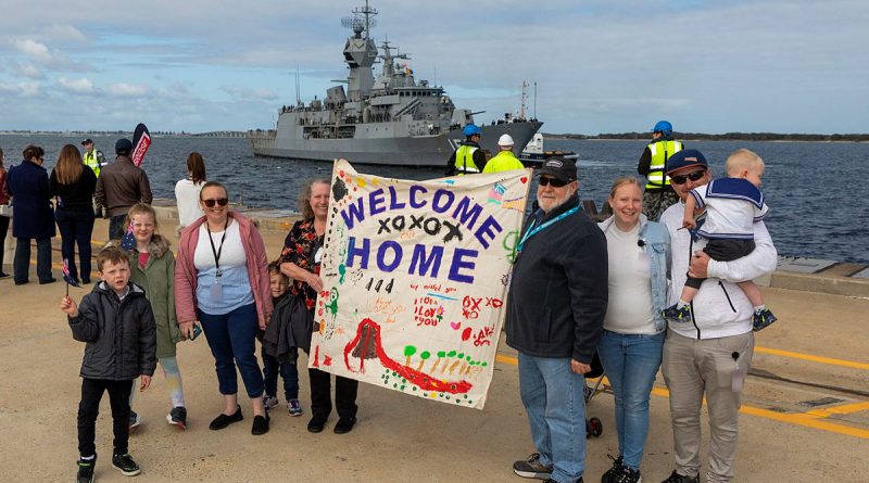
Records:
[[[462,128],[481,113],[457,109],[443,87],[417,82],[413,71],[399,63],[410,56],[388,41],[378,49],[370,35],[376,14],[366,0],[342,20],[353,30],[343,50],[350,74],[333,81],[347,85],[347,90],[343,85],[331,87],[324,99],[315,97],[307,104],[297,94],[295,105],[279,110],[276,129],[248,132],[255,155],[328,162],[343,157],[357,164],[401,166],[446,164],[465,139]],[[375,78],[373,66],[378,60],[382,71]],[[480,126],[480,144],[498,153],[498,138],[508,134],[518,155],[542,124],[526,118],[525,110],[505,114]]]

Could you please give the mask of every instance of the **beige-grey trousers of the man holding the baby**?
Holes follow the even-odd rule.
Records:
[[[733,354],[738,353],[738,360]],[[670,390],[676,471],[684,476],[700,473],[700,412],[703,397],[709,410],[709,482],[733,480],[736,456],[740,395],[732,390],[739,363],[743,378],[754,355],[754,333],[720,339],[691,339],[667,331],[662,371]]]

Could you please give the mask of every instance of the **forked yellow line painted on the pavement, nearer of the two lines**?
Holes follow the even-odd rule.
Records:
[[[513,366],[519,364],[519,360],[516,357],[504,356],[501,354],[495,356],[495,360],[504,364],[509,364]],[[670,392],[665,387],[652,387],[652,394],[660,397],[670,396]],[[839,411],[836,411],[836,409],[839,409]],[[839,406],[837,408],[833,407],[826,410],[815,409],[807,412],[777,412],[777,411],[771,411],[769,409],[761,409],[759,407],[746,406],[746,405],[743,405],[742,408],[740,408],[740,412],[744,415],[757,416],[765,419],[771,419],[773,421],[786,422],[789,424],[802,425],[816,430],[828,431],[831,433],[845,434],[848,436],[869,440],[869,430],[852,428],[821,420],[834,414],[859,412],[862,410],[869,410],[869,403],[855,403],[855,404]],[[827,411],[828,414],[823,414],[823,411]]]

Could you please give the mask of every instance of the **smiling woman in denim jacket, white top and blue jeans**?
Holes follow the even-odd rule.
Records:
[[[609,192],[613,216],[600,224],[609,258],[609,303],[597,355],[613,386],[619,457],[603,483],[637,483],[648,434],[648,397],[660,366],[670,236],[648,221],[643,190],[632,177]]]

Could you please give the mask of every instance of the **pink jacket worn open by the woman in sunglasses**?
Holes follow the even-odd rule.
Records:
[[[265,243],[263,243],[263,238],[260,237],[256,227],[248,218],[237,212],[229,212],[229,216],[238,224],[260,327],[265,327],[273,312]],[[178,242],[178,256],[175,260],[175,314],[178,316],[178,323],[199,319],[197,317],[198,278],[197,267],[193,265],[193,254],[197,252],[199,242],[199,227],[203,223],[205,223],[204,216],[185,228]]]

